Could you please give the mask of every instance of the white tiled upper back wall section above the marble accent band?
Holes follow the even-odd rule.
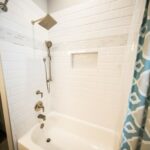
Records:
[[[127,34],[134,3],[135,0],[89,1],[54,13],[59,23],[50,36],[65,42]]]

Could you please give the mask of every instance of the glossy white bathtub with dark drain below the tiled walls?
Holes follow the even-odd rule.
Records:
[[[47,143],[47,138],[51,141]],[[18,140],[19,150],[117,150],[117,135],[94,124],[58,113],[47,116],[45,127],[34,126]]]

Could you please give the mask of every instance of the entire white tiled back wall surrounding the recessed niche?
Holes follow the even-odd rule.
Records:
[[[121,128],[123,79],[135,0],[94,0],[52,13],[52,109],[98,124]],[[91,68],[73,67],[71,53],[98,52]],[[82,64],[82,61],[76,62]]]

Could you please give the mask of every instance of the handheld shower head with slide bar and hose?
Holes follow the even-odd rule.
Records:
[[[50,81],[52,81],[50,48],[52,47],[52,42],[46,41],[45,44],[47,46],[47,57],[43,58],[43,62],[45,65],[45,77],[46,77],[47,91],[48,93],[50,93]],[[48,67],[47,67],[46,61],[48,61]]]

